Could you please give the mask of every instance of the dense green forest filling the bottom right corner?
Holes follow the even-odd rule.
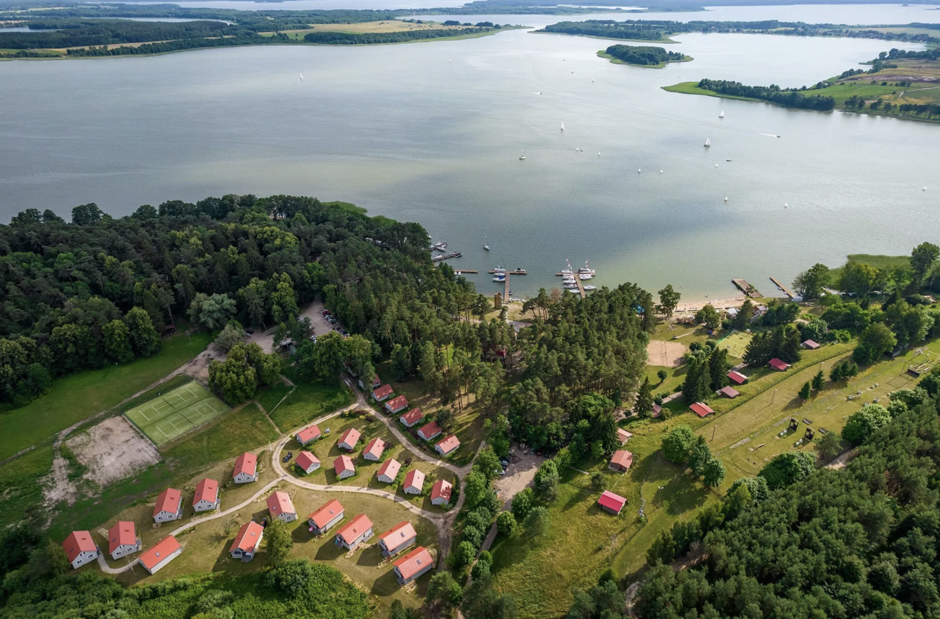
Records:
[[[802,472],[781,478],[768,464],[654,545],[635,610],[665,619],[936,616],[938,445],[928,398],[873,432],[844,471],[794,462]],[[674,573],[660,563],[689,549],[701,565]]]

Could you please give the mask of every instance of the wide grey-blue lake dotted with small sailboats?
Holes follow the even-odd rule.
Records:
[[[722,11],[690,15],[940,21],[901,7]],[[668,48],[695,61],[664,70],[610,64],[595,55],[604,40],[525,31],[2,62],[0,219],[26,208],[68,217],[85,202],[124,215],[173,198],[317,195],[424,224],[463,252],[455,268],[525,267],[514,296],[556,286],[566,259],[590,260],[598,285],[672,283],[695,299],[744,277],[769,293],[768,277],[790,282],[817,261],[937,240],[940,126],[660,89],[702,77],[811,85],[899,44],[678,39]],[[482,292],[502,289],[490,280],[475,278]]]

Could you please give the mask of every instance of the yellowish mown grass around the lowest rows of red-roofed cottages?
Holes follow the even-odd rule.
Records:
[[[254,491],[257,491],[260,484],[261,481],[258,481],[258,483],[245,486],[255,487]],[[418,587],[415,592],[402,592],[398,581],[392,574],[392,565],[382,561],[377,535],[384,533],[384,531],[402,520],[410,520],[415,526],[417,544],[436,551],[436,532],[430,521],[416,517],[399,504],[379,497],[345,492],[315,492],[289,484],[284,484],[278,489],[290,493],[294,506],[298,510],[298,515],[301,517],[288,525],[294,541],[293,549],[290,552],[291,558],[306,557],[316,563],[337,567],[352,581],[365,589],[370,601],[383,609],[382,614],[387,613],[387,609],[394,599],[400,599],[405,606],[410,607],[420,604],[427,590],[428,580],[431,580],[431,574],[427,574],[418,580]],[[223,493],[223,507],[226,499],[227,493]],[[343,523],[348,522],[356,514],[366,514],[372,520],[373,531],[376,536],[370,538],[368,545],[358,549],[352,557],[346,556],[346,549],[338,549],[334,544],[333,534],[336,533],[341,524],[332,529],[331,534],[323,535],[320,538],[307,532],[306,516],[332,499],[342,503],[346,510]],[[191,495],[184,496],[184,501],[188,502],[190,500]],[[145,549],[179,526],[176,522],[169,522],[164,523],[160,528],[154,529],[150,524],[149,509],[152,508],[140,506],[121,516],[121,518],[125,516],[133,518],[136,522],[137,531],[138,534],[142,535]],[[146,513],[144,513],[145,511]],[[267,505],[261,499],[247,505],[239,512],[199,524],[195,529],[180,534],[178,539],[183,546],[182,554],[155,576],[150,576],[144,570],[135,567],[133,572],[125,572],[117,578],[126,584],[136,584],[166,580],[198,572],[226,572],[234,575],[261,569],[265,566],[266,559],[266,553],[263,549],[254,561],[248,563],[233,560],[228,554],[228,549],[231,547],[239,527],[244,522],[252,518],[260,521],[261,518],[267,516]],[[183,522],[186,521],[183,520]],[[92,534],[100,545],[105,545],[101,532],[92,531]],[[126,562],[126,559],[120,559],[117,562],[112,562],[111,565],[123,565],[124,562]],[[83,567],[82,569],[97,569],[97,567]]]

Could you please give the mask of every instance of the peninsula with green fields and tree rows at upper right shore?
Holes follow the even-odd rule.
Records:
[[[913,52],[892,49],[865,63],[870,69],[845,70],[815,85],[781,88],[702,79],[663,86],[679,92],[744,101],[767,101],[785,107],[834,109],[878,116],[940,121],[940,48]]]

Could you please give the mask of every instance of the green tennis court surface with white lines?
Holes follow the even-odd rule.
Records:
[[[228,410],[197,382],[158,395],[124,415],[155,444],[172,441]]]

